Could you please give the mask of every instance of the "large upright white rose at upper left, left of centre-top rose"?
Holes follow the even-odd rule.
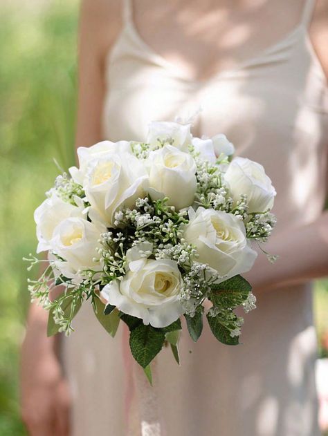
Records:
[[[83,187],[91,204],[91,219],[96,220],[95,212],[108,227],[113,227],[114,214],[120,207],[131,207],[136,198],[145,196],[147,179],[143,161],[124,149],[89,162]]]

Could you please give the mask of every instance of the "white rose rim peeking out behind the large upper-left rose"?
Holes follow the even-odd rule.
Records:
[[[124,150],[127,151],[127,153],[131,153],[131,143],[128,141],[102,141],[90,147],[79,147],[79,168],[71,167],[69,173],[76,183],[83,184],[86,169],[91,160],[100,159],[108,153],[115,153],[118,150]]]

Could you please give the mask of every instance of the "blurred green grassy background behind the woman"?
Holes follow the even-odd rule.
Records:
[[[74,159],[78,0],[0,3],[0,435],[26,435],[19,419],[19,345],[28,307],[33,211]],[[328,281],[316,283],[320,354],[328,355]],[[327,347],[327,348],[326,348]]]

